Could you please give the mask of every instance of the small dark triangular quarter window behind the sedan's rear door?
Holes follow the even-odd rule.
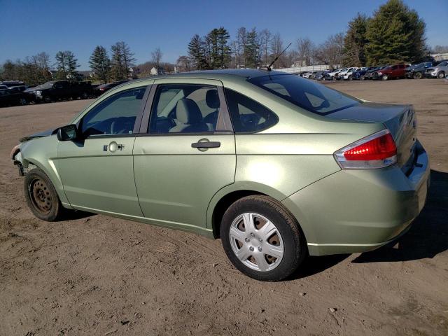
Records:
[[[279,121],[274,112],[244,94],[225,89],[225,98],[235,133],[260,132]]]

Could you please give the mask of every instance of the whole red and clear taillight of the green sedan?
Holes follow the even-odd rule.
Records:
[[[339,149],[335,159],[342,169],[375,169],[397,162],[397,146],[392,134],[382,130]]]

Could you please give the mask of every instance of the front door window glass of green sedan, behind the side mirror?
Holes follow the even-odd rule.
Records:
[[[105,134],[132,134],[146,86],[124,90],[99,103],[81,122],[85,137]]]

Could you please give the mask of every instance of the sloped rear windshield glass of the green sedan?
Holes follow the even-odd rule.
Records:
[[[262,76],[248,82],[323,116],[360,104],[356,98],[294,75]]]

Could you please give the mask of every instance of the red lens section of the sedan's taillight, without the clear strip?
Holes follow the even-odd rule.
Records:
[[[397,147],[390,133],[344,151],[344,158],[349,161],[384,160],[393,155],[397,155]]]

